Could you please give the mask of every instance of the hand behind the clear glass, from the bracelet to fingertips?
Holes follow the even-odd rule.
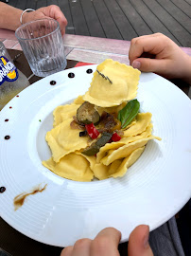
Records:
[[[37,9],[31,12],[25,12],[23,15],[23,23],[39,20],[43,18],[52,18],[59,22],[61,27],[61,35],[65,33],[67,20],[58,6],[49,6]]]

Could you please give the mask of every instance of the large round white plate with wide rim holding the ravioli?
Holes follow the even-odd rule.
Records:
[[[141,74],[137,99],[144,112],[152,113],[153,134],[162,141],[149,141],[124,177],[84,183],[43,167],[50,156],[44,136],[52,128],[52,112],[87,91],[88,68],[95,71],[96,65],[35,82],[0,112],[0,187],[6,187],[0,193],[1,217],[26,236],[58,247],[94,238],[106,227],[119,229],[122,242],[127,241],[139,224],[151,230],[164,224],[191,195],[191,101],[155,74]],[[68,78],[71,72],[75,78]],[[15,211],[14,197],[38,184],[47,184],[46,190],[29,195]]]

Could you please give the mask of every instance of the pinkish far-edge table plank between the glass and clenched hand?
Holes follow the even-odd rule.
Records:
[[[73,48],[113,52],[120,55],[128,55],[130,48],[130,41],[67,34],[63,38],[63,44]]]

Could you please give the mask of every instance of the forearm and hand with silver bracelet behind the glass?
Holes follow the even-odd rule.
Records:
[[[22,12],[22,9],[16,9],[0,2],[0,28],[16,30],[17,27],[21,26],[20,17]],[[52,5],[35,11],[25,12],[22,17],[23,23],[43,18],[52,18],[57,20],[61,27],[61,34],[63,35],[65,33],[67,20],[58,6]]]

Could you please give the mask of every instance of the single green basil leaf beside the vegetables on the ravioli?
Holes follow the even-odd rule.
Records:
[[[139,101],[132,100],[132,101],[129,101],[127,105],[118,112],[117,119],[121,121],[122,128],[125,128],[126,126],[128,126],[131,120],[136,117],[136,115],[139,112],[139,108],[140,108]]]

